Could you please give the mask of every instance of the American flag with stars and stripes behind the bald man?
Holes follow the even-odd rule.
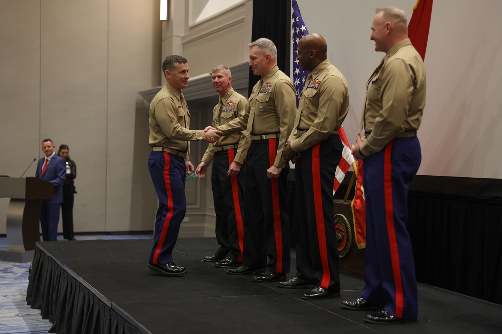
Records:
[[[298,8],[298,4],[296,0],[291,1],[291,7],[292,7],[292,26],[293,26],[293,85],[296,88],[296,107],[298,108],[298,102],[299,102],[299,97],[300,97],[300,92],[303,90],[303,87],[305,86],[305,80],[307,79],[307,76],[309,75],[308,72],[302,71],[300,68],[300,64],[298,63],[298,60],[296,59],[296,56],[298,54],[298,41],[304,36],[309,33],[307,30],[307,27],[305,26],[305,22],[303,22],[302,19],[302,14],[300,13],[300,8]],[[345,135],[345,130],[343,130],[343,127],[341,127],[338,130],[338,135],[340,136],[340,139],[342,140],[343,143],[343,152],[342,152],[342,158],[340,160],[340,163],[338,164],[338,167],[336,167],[336,178],[333,186],[333,194],[336,192],[338,187],[340,186],[340,183],[343,181],[343,178],[345,177],[345,174],[347,174],[347,171],[350,168],[350,165],[352,165],[355,162],[354,157],[352,156],[352,151],[350,150],[350,145],[347,140],[347,136]]]

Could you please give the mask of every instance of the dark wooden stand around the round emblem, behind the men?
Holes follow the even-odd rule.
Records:
[[[356,276],[364,276],[364,249],[359,249],[357,247],[357,242],[355,240],[354,217],[352,215],[352,209],[350,208],[351,202],[343,200],[333,200],[333,214],[335,215],[335,224],[337,220],[346,220],[348,222],[348,229],[346,231],[347,237],[350,236],[351,240],[346,240],[343,245],[348,244],[351,241],[350,249],[341,250],[341,245],[338,247],[340,250],[340,272],[348,273]],[[341,219],[340,219],[341,218]],[[344,224],[345,225],[345,224]]]

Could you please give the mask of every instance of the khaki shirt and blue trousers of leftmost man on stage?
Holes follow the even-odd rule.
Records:
[[[166,83],[150,103],[148,170],[159,208],[149,262],[173,262],[173,248],[185,217],[185,161],[189,141],[204,139],[204,130],[189,130],[190,112],[180,90]]]

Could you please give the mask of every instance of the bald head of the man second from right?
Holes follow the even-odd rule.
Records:
[[[302,37],[298,42],[297,50],[297,59],[303,71],[312,71],[317,65],[328,58],[328,45],[326,40],[316,33]]]

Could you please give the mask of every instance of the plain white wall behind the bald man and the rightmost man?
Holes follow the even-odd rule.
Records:
[[[351,106],[344,128],[353,142],[366,81],[384,56],[369,39],[375,8],[397,6],[410,18],[416,0],[297,2],[309,32],[324,36],[328,58],[348,80]],[[434,1],[419,174],[502,178],[501,12],[499,0]]]

